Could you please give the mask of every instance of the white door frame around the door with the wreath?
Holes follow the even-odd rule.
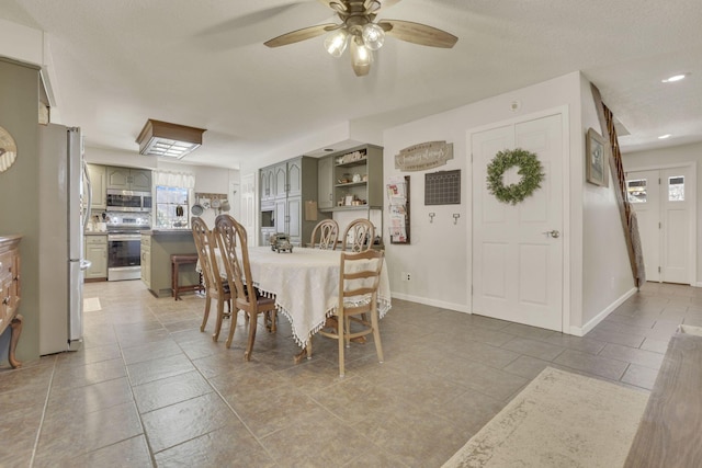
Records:
[[[537,118],[547,117],[550,115],[561,114],[562,118],[562,132],[563,132],[563,168],[562,168],[562,196],[563,196],[563,294],[562,294],[562,323],[563,323],[563,333],[570,333],[570,243],[571,243],[571,235],[570,235],[570,118],[569,118],[569,106],[561,105],[556,107],[546,109],[543,111],[534,112],[526,115],[520,115],[513,118],[494,122],[486,125],[480,125],[478,127],[469,128],[466,132],[466,150],[468,152],[472,151],[472,140],[473,134],[491,130],[495,128],[503,127],[506,125],[516,125],[521,122],[534,121]],[[582,145],[585,146],[585,133],[582,133]],[[582,150],[585,152],[585,150]],[[471,229],[466,230],[466,242],[469,246],[466,249],[468,258],[466,259],[466,264],[468,265],[468,285],[467,285],[467,301],[469,307],[469,312],[473,313],[473,229],[475,229],[475,224],[473,221],[473,156],[469,156],[469,163],[466,164],[468,169],[465,171],[463,183],[466,187],[471,187],[471,190],[466,190],[467,195],[467,204],[469,219],[467,220]],[[585,165],[585,164],[581,164]],[[585,180],[584,170],[581,170],[580,174],[582,175],[582,180]]]

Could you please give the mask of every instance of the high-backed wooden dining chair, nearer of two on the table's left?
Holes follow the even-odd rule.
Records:
[[[253,287],[247,233],[244,226],[229,215],[219,215],[215,219],[215,236],[227,271],[229,290],[234,295],[235,310],[244,310],[249,318],[249,340],[244,358],[250,361],[259,315],[263,315],[264,320],[270,323],[269,330],[275,332],[275,299],[262,296],[258,288]],[[231,320],[229,338],[226,342],[227,347],[231,346],[236,328],[236,313],[233,317],[235,318]]]

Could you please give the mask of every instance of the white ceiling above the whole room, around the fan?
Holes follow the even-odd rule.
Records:
[[[337,22],[316,0],[0,0],[0,18],[48,33],[56,106],[88,146],[138,151],[147,118],[206,128],[186,163],[333,147],[325,134],[340,125],[386,128],[576,70],[631,133],[624,151],[702,141],[700,0],[403,0],[378,19],[458,43],[388,37],[363,78],[324,36],[263,46]],[[679,72],[691,75],[660,82]]]

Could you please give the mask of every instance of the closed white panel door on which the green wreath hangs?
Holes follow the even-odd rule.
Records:
[[[473,312],[563,331],[563,116],[551,115],[474,134]],[[541,189],[517,205],[498,202],[487,165],[503,149],[535,152]],[[505,183],[518,183],[518,169]]]

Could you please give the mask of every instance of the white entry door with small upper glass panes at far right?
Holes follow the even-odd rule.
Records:
[[[627,198],[636,210],[647,281],[691,282],[691,173],[689,167],[626,173]]]

